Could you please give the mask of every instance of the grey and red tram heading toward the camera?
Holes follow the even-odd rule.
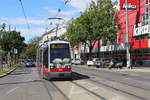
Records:
[[[62,40],[39,45],[37,65],[44,79],[72,78],[70,43]]]

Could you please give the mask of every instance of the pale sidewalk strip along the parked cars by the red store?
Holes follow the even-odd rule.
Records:
[[[88,67],[87,65],[73,65],[73,66],[78,66],[78,67],[85,67],[89,69],[97,69],[97,70],[103,70],[103,71],[121,71],[121,72],[150,72],[150,67],[144,67],[144,66],[138,66],[138,67],[133,67],[133,69],[129,69],[126,67],[123,67],[122,69],[117,69],[117,68],[96,68],[95,66],[90,66]]]

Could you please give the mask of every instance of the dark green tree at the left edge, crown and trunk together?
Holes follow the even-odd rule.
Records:
[[[19,57],[20,53],[24,50],[26,44],[24,43],[24,37],[17,31],[5,31],[5,27],[1,30],[0,34],[0,47],[7,56],[7,62],[14,60]],[[9,56],[9,57],[8,57]],[[12,59],[14,58],[14,59]]]

